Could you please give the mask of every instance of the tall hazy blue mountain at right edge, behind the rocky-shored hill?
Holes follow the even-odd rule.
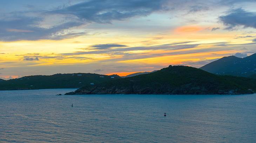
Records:
[[[217,75],[249,77],[252,74],[256,74],[256,53],[245,58],[235,56],[223,57],[208,63],[200,69]]]

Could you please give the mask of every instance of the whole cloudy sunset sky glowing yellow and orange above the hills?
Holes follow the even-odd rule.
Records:
[[[0,0],[0,78],[124,76],[256,53],[256,0]]]

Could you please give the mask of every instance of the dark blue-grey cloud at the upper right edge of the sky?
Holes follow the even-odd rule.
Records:
[[[233,30],[238,26],[256,28],[256,13],[247,12],[241,8],[233,9],[227,15],[220,16],[219,19],[229,30]]]

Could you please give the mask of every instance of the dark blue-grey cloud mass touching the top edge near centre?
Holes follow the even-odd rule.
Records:
[[[48,13],[74,15],[87,22],[111,23],[113,20],[147,16],[164,10],[166,2],[167,0],[87,0]]]

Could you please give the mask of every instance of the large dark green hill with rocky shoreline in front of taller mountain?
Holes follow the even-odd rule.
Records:
[[[74,94],[247,94],[256,91],[256,79],[219,76],[207,71],[169,66],[154,73],[84,86]]]

